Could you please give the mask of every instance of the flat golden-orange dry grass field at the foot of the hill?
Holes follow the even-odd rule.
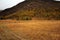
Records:
[[[60,20],[0,20],[0,40],[60,40]]]

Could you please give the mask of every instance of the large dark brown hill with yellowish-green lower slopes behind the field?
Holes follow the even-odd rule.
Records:
[[[1,19],[60,19],[60,2],[26,0],[0,12]]]

